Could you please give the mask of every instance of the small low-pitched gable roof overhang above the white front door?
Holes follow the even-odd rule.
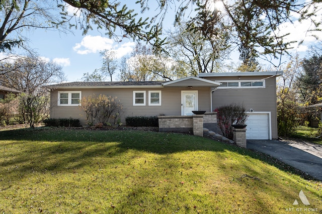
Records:
[[[195,76],[188,76],[182,79],[169,81],[163,83],[163,86],[176,86],[176,87],[187,87],[187,86],[198,86],[198,87],[218,87],[219,82],[203,79]]]

